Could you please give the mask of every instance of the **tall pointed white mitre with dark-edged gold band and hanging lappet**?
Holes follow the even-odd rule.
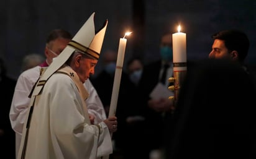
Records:
[[[40,93],[47,79],[65,64],[74,51],[79,51],[91,56],[91,58],[99,59],[108,21],[106,20],[103,28],[96,32],[94,27],[94,14],[95,12],[91,14],[89,19],[86,20],[85,24],[76,33],[75,37],[73,37],[66,48],[63,49],[62,53],[48,66],[47,70],[42,74],[42,77],[40,77],[32,95],[38,95]]]

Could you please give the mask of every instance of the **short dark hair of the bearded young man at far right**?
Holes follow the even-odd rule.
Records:
[[[240,30],[222,30],[212,35],[214,40],[223,40],[225,46],[229,51],[237,51],[239,56],[239,61],[243,62],[246,58],[250,42],[247,35]]]

